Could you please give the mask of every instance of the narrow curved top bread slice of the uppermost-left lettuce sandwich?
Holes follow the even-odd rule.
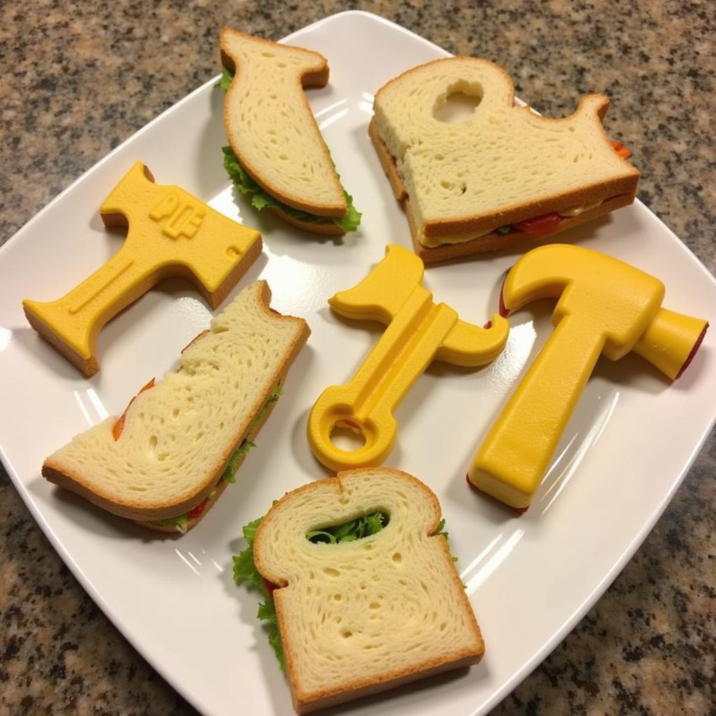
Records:
[[[221,61],[236,73],[226,92],[224,126],[243,168],[293,208],[346,216],[343,188],[303,91],[328,82],[326,58],[225,27]],[[306,231],[316,229],[300,224]]]

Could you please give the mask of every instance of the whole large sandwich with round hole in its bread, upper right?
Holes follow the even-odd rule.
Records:
[[[443,121],[454,95],[475,110]],[[541,117],[515,105],[503,69],[474,57],[429,62],[385,84],[369,134],[405,201],[415,251],[427,263],[520,246],[632,203],[639,172],[606,137],[608,105],[587,95],[569,117]]]

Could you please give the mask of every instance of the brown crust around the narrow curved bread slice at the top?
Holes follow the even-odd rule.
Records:
[[[293,45],[279,45],[279,43],[271,42],[271,40],[261,39],[259,37],[253,37],[251,35],[244,34],[243,32],[238,32],[237,30],[233,30],[229,27],[224,27],[221,30],[221,39],[220,39],[220,47],[221,47],[221,62],[224,67],[228,67],[228,69],[233,69],[236,74],[241,72],[241,65],[238,64],[236,57],[231,56],[228,52],[228,37],[235,37],[235,38],[241,38],[245,39],[247,41],[251,42],[259,42],[266,44],[266,47],[276,47],[279,46],[282,49],[286,49],[289,47],[291,50],[294,50],[297,53],[303,53],[307,58],[311,58],[314,60],[315,64],[311,69],[306,70],[303,74],[300,75],[298,79],[299,88],[304,87],[324,87],[325,84],[328,82],[329,77],[329,66],[328,61],[326,58],[320,54],[319,52],[315,52],[314,50],[304,49],[302,47],[294,47]],[[224,100],[224,107],[223,107],[223,120],[224,120],[224,126],[230,127],[231,126],[231,112],[232,112],[232,104],[233,104],[233,92],[235,92],[237,89],[237,85],[232,82],[231,87],[228,88],[228,92],[226,92],[226,99]],[[305,115],[306,117],[310,117],[310,122],[306,122],[306,130],[309,132],[313,132],[314,136],[317,140],[319,140],[319,145],[321,147],[321,150],[324,154],[326,165],[329,167],[333,167],[333,162],[331,159],[331,156],[328,153],[328,149],[326,147],[326,144],[323,140],[323,136],[321,135],[321,131],[319,130],[318,124],[316,123],[316,120],[314,118],[313,112],[311,111],[311,107],[309,105],[308,100],[306,99],[306,95],[303,91],[299,92],[299,95],[301,97],[301,102],[304,105]],[[237,95],[238,96],[238,95]],[[343,218],[344,216],[347,216],[348,213],[348,205],[346,203],[345,197],[343,195],[343,188],[342,185],[338,179],[338,175],[334,169],[332,169],[332,183],[334,183],[334,188],[336,190],[336,195],[339,197],[339,199],[335,203],[330,204],[311,204],[306,203],[302,201],[298,196],[292,195],[290,193],[285,193],[281,191],[280,188],[271,185],[266,182],[265,179],[262,178],[261,172],[256,168],[256,166],[252,165],[251,162],[246,158],[245,153],[242,153],[241,151],[241,145],[236,142],[235,138],[233,137],[233,132],[227,132],[228,142],[231,145],[231,148],[233,149],[233,152],[238,157],[239,162],[241,162],[241,165],[243,168],[248,172],[249,175],[251,175],[251,178],[253,178],[256,183],[261,186],[264,190],[266,190],[271,196],[274,196],[275,198],[282,201],[284,204],[289,205],[293,207],[294,209],[299,209],[299,211],[306,211],[311,214],[316,214],[317,216],[334,216],[337,218]],[[286,215],[284,214],[281,218],[284,218]],[[302,228],[302,227],[301,227]],[[318,232],[316,232],[318,233]]]

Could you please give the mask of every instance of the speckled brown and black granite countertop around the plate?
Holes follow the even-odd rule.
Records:
[[[716,271],[716,5],[698,0],[3,3],[0,242],[216,74],[223,24],[278,39],[357,6],[494,59],[548,115],[606,92],[639,197]],[[715,477],[712,433],[636,556],[495,715],[716,714]],[[0,713],[195,713],[69,574],[4,471],[0,513]]]

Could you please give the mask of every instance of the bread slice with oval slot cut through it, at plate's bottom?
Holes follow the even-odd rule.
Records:
[[[382,512],[354,542],[313,544],[306,532]],[[263,518],[253,543],[274,590],[299,714],[476,664],[485,646],[448,543],[440,504],[390,468],[347,470],[304,485]]]

